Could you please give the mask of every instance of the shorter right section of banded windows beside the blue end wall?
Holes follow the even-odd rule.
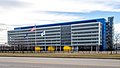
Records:
[[[71,25],[72,45],[73,46],[102,45],[101,25],[102,24],[99,22],[90,22],[90,23],[82,23],[82,24],[80,23],[80,24]]]

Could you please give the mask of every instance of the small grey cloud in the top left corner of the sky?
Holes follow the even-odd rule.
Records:
[[[0,0],[0,7],[21,7],[27,3],[18,0]]]

